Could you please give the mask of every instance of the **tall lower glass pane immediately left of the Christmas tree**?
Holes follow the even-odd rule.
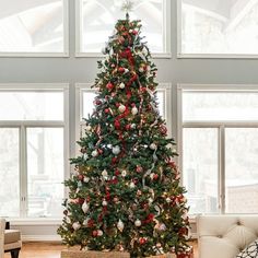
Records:
[[[28,216],[61,215],[63,174],[63,129],[28,128]]]

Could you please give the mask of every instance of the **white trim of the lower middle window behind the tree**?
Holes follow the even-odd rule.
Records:
[[[80,140],[81,127],[85,125],[82,121],[82,107],[83,107],[83,91],[95,92],[95,89],[91,89],[94,83],[75,83],[75,139]],[[164,92],[164,119],[166,120],[168,137],[172,137],[172,84],[159,83],[157,91]],[[77,148],[78,149],[78,148]],[[73,153],[77,155],[78,153]]]

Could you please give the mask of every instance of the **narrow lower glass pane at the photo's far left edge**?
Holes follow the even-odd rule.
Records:
[[[0,128],[0,216],[19,215],[19,129]]]

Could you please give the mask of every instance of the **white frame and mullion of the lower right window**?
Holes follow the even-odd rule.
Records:
[[[183,121],[183,92],[256,92],[258,84],[177,84],[177,136],[178,136],[178,157],[179,167],[183,172],[183,130],[184,128],[218,128],[219,130],[219,172],[218,172],[218,210],[219,214],[231,214],[225,212],[225,129],[226,128],[258,128],[257,121]],[[184,185],[184,172],[181,173],[181,184]],[[192,218],[199,213],[190,214]],[[206,214],[206,213],[203,213]],[[214,213],[218,214],[218,213]],[[233,213],[235,214],[235,213]]]

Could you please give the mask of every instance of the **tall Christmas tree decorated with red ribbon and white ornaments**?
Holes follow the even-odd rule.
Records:
[[[157,109],[156,67],[140,21],[119,20],[98,61],[94,112],[85,119],[81,155],[71,159],[64,219],[70,246],[129,251],[131,257],[184,254],[188,235],[185,189]],[[184,257],[184,256],[179,256]]]

